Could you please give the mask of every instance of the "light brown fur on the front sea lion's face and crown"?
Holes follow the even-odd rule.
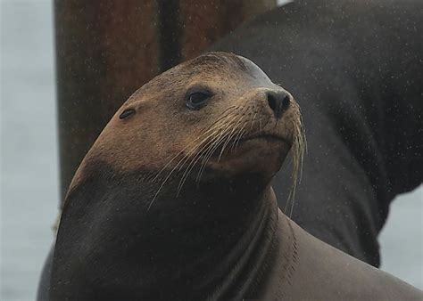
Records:
[[[185,104],[187,89],[194,85],[207,86],[214,94],[206,107],[195,111],[189,110]],[[201,145],[195,149],[195,143],[200,142],[198,137],[225,113],[228,116],[221,125],[231,120],[234,122],[232,139],[261,132],[278,134],[286,139],[286,143],[244,143],[261,143],[260,158],[257,145],[253,145],[254,151],[248,151],[251,147],[238,145],[236,154],[225,151],[220,160],[208,161],[208,167],[232,174],[271,166],[274,170],[269,175],[272,176],[282,160],[279,156],[270,156],[270,152],[278,151],[285,156],[295,137],[301,135],[298,131],[302,131],[300,111],[294,100],[284,118],[278,122],[273,118],[265,92],[281,89],[252,61],[231,53],[206,53],[180,64],[153,78],[121,106],[87,153],[70,191],[78,185],[85,168],[93,160],[101,159],[120,171],[160,171],[163,167],[175,167],[178,154],[182,158],[192,157],[201,150]],[[233,110],[228,114],[231,108]],[[136,114],[120,119],[120,114],[128,109],[136,110]],[[242,126],[244,132],[238,137],[235,134]],[[193,151],[189,153],[190,150]],[[275,158],[275,162],[269,162],[270,158]]]

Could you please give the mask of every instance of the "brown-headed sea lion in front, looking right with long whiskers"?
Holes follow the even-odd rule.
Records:
[[[303,145],[293,96],[252,61],[206,53],[153,78],[72,180],[50,298],[421,299],[278,209],[270,182]]]

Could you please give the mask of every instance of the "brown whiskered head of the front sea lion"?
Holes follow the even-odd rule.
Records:
[[[299,162],[303,126],[293,96],[244,57],[205,53],[130,96],[86,161],[162,180],[180,172],[182,182],[251,174],[269,183],[292,146]]]

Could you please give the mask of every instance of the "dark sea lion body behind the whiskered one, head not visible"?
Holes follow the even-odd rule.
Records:
[[[286,204],[282,168],[273,181],[279,207],[374,266],[391,201],[423,181],[422,25],[419,0],[297,0],[211,47],[257,63],[302,108],[302,183]]]

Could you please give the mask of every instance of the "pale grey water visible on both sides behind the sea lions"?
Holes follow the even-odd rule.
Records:
[[[1,292],[33,300],[58,204],[54,41],[50,1],[1,4]],[[382,269],[423,289],[423,189],[394,201]]]

